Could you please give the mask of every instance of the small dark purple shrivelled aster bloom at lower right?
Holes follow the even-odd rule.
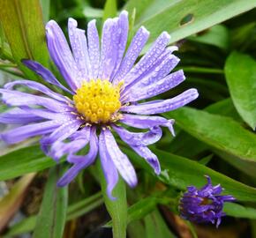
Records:
[[[222,212],[224,203],[236,199],[231,195],[220,195],[223,190],[221,184],[213,186],[211,178],[206,177],[207,185],[200,190],[194,186],[187,187],[187,192],[180,199],[180,214],[183,219],[198,223],[211,222],[219,227],[222,216],[225,216]]]

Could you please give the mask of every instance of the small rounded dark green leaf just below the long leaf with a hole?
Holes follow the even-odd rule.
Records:
[[[213,45],[224,50],[230,47],[230,33],[228,28],[223,25],[213,26],[205,33],[191,36],[189,40]]]

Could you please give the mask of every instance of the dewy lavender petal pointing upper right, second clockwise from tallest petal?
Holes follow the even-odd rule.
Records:
[[[154,45],[147,51],[147,54],[143,56],[139,63],[136,63],[132,71],[130,71],[124,79],[124,85],[130,85],[136,78],[139,78],[144,72],[149,70],[154,62],[162,55],[164,48],[169,42],[169,33],[163,32],[154,42]]]

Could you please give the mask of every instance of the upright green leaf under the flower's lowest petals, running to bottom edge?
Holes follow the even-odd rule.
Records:
[[[112,219],[112,231],[114,238],[126,237],[127,226],[127,202],[126,202],[126,187],[125,182],[119,176],[119,180],[115,189],[112,191],[113,197],[117,197],[116,200],[110,200],[107,193],[107,182],[102,172],[101,162],[97,160],[97,168],[99,178],[102,186],[102,193],[105,205]]]

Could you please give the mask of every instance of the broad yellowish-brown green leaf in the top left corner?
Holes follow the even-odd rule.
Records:
[[[27,58],[48,64],[40,1],[2,0],[0,20],[15,62],[27,76],[34,78],[34,73],[20,60]]]

